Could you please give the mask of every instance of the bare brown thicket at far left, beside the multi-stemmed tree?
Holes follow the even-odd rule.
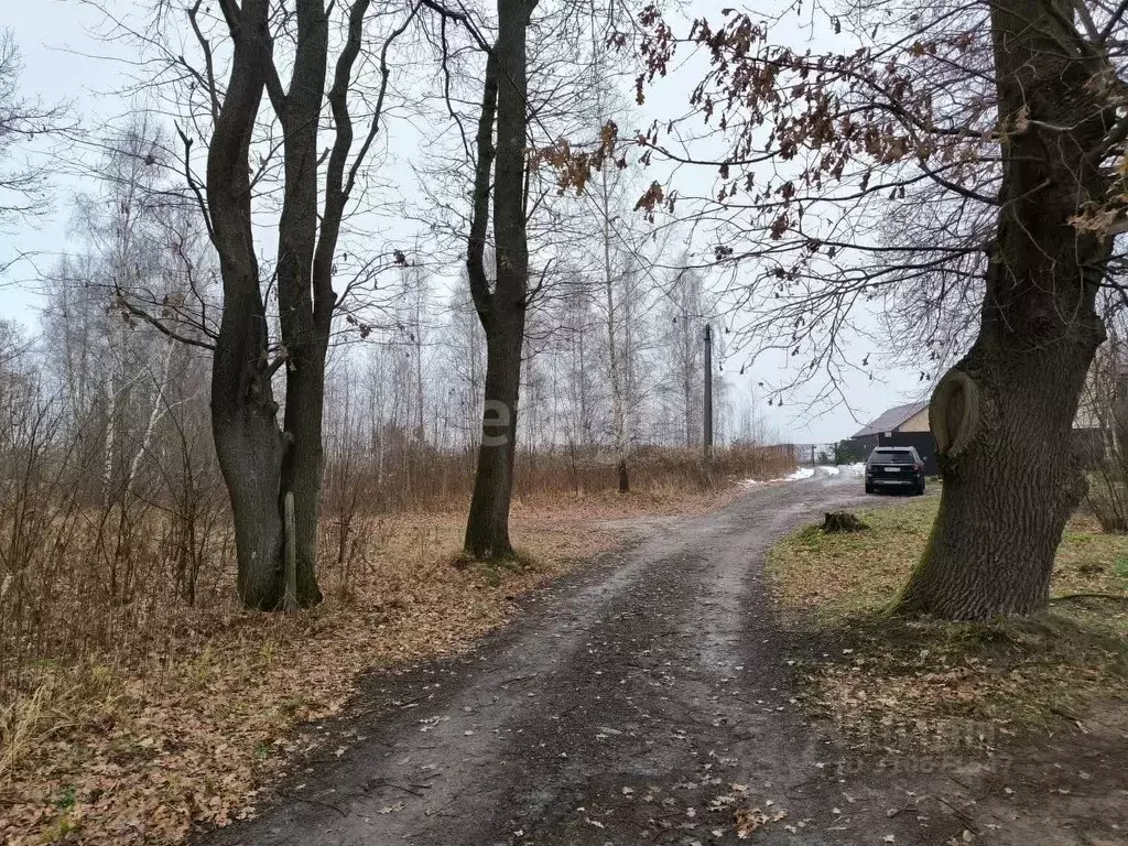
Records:
[[[229,601],[230,528],[202,400],[175,400],[166,380],[148,414],[130,415],[136,425],[107,437],[105,405],[74,415],[29,376],[28,356],[10,356],[0,379],[0,691],[27,688],[43,661],[143,662],[182,605]]]

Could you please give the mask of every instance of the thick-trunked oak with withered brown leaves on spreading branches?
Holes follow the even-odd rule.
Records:
[[[1126,9],[887,2],[830,17],[847,47],[821,52],[788,46],[778,18],[726,10],[679,36],[656,8],[642,16],[640,97],[676,49],[699,49],[694,120],[714,131],[687,151],[668,143],[677,121],[655,122],[636,143],[717,177],[697,197],[655,182],[641,204],[716,221],[713,263],[743,268],[759,349],[841,390],[848,315],[896,291],[934,309],[978,299],[973,341],[932,398],[944,487],[905,610],[984,619],[1047,602],[1085,490],[1070,439],[1104,338],[1095,301],[1119,287]],[[891,227],[891,209],[915,212]]]

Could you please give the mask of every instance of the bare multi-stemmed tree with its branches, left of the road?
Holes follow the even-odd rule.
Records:
[[[406,261],[389,250],[350,262],[340,243],[381,129],[388,52],[418,8],[382,15],[371,0],[197,0],[183,12],[187,54],[166,41],[176,28],[171,16],[180,14],[167,3],[144,29],[115,21],[175,69],[171,85],[183,85],[173,99],[182,114],[185,193],[206,220],[222,282],[218,326],[205,342],[213,350],[212,433],[235,517],[239,596],[250,608],[321,599],[315,562],[334,316],[343,312],[347,326],[369,332],[351,293],[381,266]],[[289,70],[288,81],[280,68]],[[361,80],[367,72],[371,85]],[[194,169],[197,136],[208,153],[202,179]],[[256,214],[264,212],[276,214],[272,272],[261,263]],[[150,305],[125,301],[139,319],[177,334]],[[281,425],[275,374],[284,382]]]

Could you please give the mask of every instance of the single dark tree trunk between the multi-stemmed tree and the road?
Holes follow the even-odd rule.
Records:
[[[465,539],[466,552],[478,558],[513,555],[509,508],[529,282],[525,209],[526,38],[535,6],[535,0],[497,0],[497,42],[486,61],[478,121],[467,271],[474,306],[486,335],[486,380],[482,443]],[[492,140],[495,114],[496,149]],[[490,208],[490,168],[494,160],[497,277],[490,291],[482,255]]]

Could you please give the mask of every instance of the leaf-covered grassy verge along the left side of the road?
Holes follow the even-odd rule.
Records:
[[[180,608],[143,658],[38,661],[0,712],[0,841],[173,844],[195,825],[253,813],[256,788],[290,752],[321,742],[315,721],[338,713],[368,669],[451,653],[503,624],[518,594],[619,543],[601,519],[705,510],[731,495],[518,500],[520,570],[451,565],[461,510],[365,518],[347,569],[323,567],[320,608]]]

